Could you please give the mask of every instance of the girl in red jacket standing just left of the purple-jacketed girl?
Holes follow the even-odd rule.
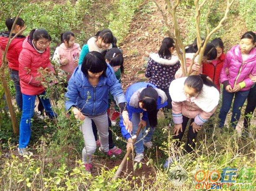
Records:
[[[203,74],[209,76],[218,91],[220,91],[220,72],[225,59],[225,54],[223,53],[224,44],[220,38],[214,38],[211,44],[213,44],[217,50],[217,58],[211,62],[203,63]]]

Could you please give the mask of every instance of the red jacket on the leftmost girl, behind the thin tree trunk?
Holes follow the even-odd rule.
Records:
[[[9,38],[8,32],[2,32],[0,34],[0,47],[4,51]],[[10,69],[19,71],[19,54],[22,50],[22,43],[26,37],[23,35],[17,36],[13,39],[7,51],[6,58],[8,60],[8,66]]]

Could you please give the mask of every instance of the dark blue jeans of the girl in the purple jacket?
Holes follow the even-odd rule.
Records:
[[[240,119],[241,115],[241,108],[243,107],[243,103],[245,102],[250,90],[247,91],[238,91],[235,93],[229,93],[225,89],[223,89],[222,94],[222,106],[220,108],[220,124],[219,127],[222,128],[224,126],[227,113],[230,110],[231,103],[233,100],[233,97],[235,96],[233,108],[232,108],[232,116],[231,116],[231,126],[233,128],[236,128],[237,122]]]

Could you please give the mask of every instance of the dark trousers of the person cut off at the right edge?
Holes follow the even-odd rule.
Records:
[[[244,122],[243,127],[248,128],[250,126],[251,116],[250,114],[253,114],[253,111],[256,107],[256,85],[254,85],[253,88],[250,89],[249,95],[247,97],[247,106],[244,112]],[[249,115],[248,115],[249,114]]]

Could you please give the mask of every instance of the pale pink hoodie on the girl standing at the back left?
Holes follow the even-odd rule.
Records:
[[[67,48],[65,44],[62,43],[54,52],[52,59],[61,64],[60,68],[67,73],[67,81],[73,74],[75,68],[78,66],[78,64],[75,64],[74,61],[75,59],[79,59],[80,52],[80,45],[77,43],[70,48]],[[65,58],[68,59],[68,64],[62,65],[62,60]]]

